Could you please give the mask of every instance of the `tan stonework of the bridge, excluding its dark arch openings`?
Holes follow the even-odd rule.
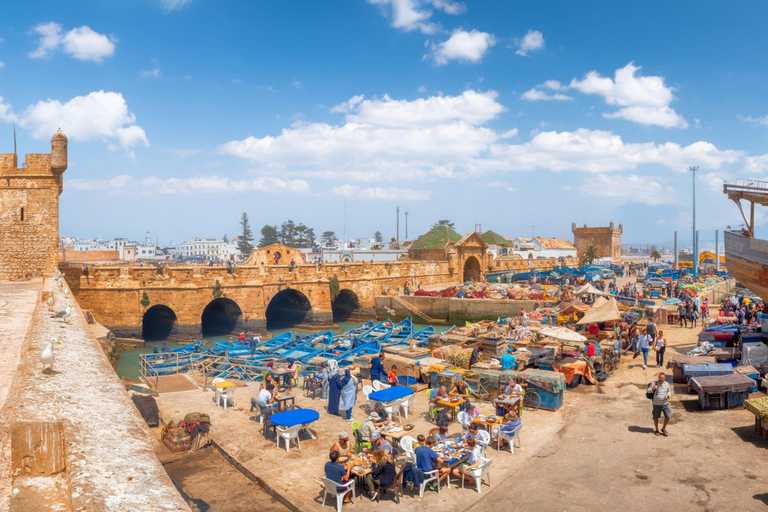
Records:
[[[242,266],[234,274],[226,268],[206,266],[166,267],[162,270],[139,266],[91,267],[62,266],[72,293],[83,309],[117,336],[141,333],[144,312],[162,304],[177,317],[176,332],[194,337],[200,332],[203,310],[214,298],[216,283],[228,299],[237,303],[251,331],[264,331],[269,302],[281,290],[292,288],[303,293],[312,306],[306,323],[332,325],[331,280],[340,289],[353,291],[364,308],[373,308],[375,298],[408,283],[422,286],[450,285],[461,276],[449,269],[448,262],[398,261],[382,263],[344,263]],[[142,299],[146,294],[144,304]]]

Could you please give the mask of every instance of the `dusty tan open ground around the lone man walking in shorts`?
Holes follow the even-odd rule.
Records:
[[[673,352],[698,332],[661,328]],[[472,510],[766,510],[768,442],[754,416],[700,411],[677,385],[669,437],[657,437],[645,385],[658,371],[625,357],[604,384],[567,392],[566,426]]]

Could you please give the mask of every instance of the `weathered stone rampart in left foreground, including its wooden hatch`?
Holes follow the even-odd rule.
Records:
[[[55,311],[67,297],[48,280]],[[47,296],[47,295],[46,295]],[[71,297],[70,297],[71,298]],[[52,318],[35,297],[18,369],[2,409],[10,510],[189,510],[154,454],[156,441],[115,375],[83,312]],[[54,343],[52,373],[40,356]]]

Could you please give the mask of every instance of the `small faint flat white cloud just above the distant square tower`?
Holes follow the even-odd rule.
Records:
[[[605,198],[621,203],[640,203],[648,206],[674,204],[678,201],[672,187],[662,185],[652,177],[598,174],[579,187],[591,198]]]

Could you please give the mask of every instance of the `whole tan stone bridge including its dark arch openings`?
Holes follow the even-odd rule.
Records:
[[[83,309],[117,336],[192,338],[267,327],[321,329],[375,315],[375,298],[408,283],[460,282],[447,261],[223,267],[61,266]],[[334,297],[332,299],[332,297]],[[355,320],[356,318],[353,318]]]

